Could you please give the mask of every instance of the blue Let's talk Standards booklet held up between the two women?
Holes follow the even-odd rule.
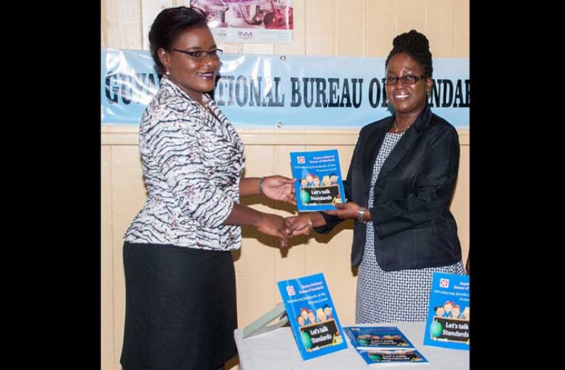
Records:
[[[290,153],[298,212],[328,211],[345,203],[337,149]]]

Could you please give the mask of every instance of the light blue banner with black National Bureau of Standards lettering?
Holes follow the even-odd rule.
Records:
[[[385,58],[224,54],[213,97],[236,127],[363,127],[391,114]],[[149,52],[102,51],[102,123],[139,125],[159,87]],[[469,127],[469,59],[433,59],[432,111]]]

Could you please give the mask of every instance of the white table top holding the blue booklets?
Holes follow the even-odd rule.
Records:
[[[395,370],[468,370],[469,351],[445,349],[423,345],[425,321],[411,323],[380,323],[377,326],[396,326],[428,359],[429,364],[394,365]],[[363,325],[360,325],[363,326]],[[239,352],[241,370],[367,370],[383,366],[368,366],[349,342],[348,348],[325,356],[302,361],[289,327],[244,339],[242,330],[236,329],[234,337]],[[388,368],[389,366],[384,366]]]

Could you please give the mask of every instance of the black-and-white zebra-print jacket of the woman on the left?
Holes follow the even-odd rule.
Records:
[[[164,75],[139,128],[147,201],[125,232],[130,243],[209,250],[241,246],[241,227],[222,225],[239,202],[244,145],[214,100],[219,121]]]

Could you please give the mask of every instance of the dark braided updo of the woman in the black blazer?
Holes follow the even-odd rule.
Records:
[[[384,69],[387,69],[389,60],[395,54],[399,54],[401,52],[409,54],[416,60],[416,62],[420,63],[424,67],[424,73],[426,76],[432,76],[433,67],[430,43],[423,33],[419,33],[416,30],[410,30],[409,32],[401,33],[394,37],[394,40],[392,40],[392,50],[387,57],[387,61],[384,62]]]

